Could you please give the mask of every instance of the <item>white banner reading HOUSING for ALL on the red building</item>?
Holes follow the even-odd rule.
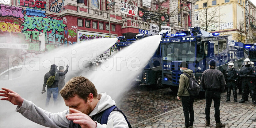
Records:
[[[125,2],[121,2],[121,12],[128,15],[133,15],[137,17],[138,15],[138,7],[130,5]]]

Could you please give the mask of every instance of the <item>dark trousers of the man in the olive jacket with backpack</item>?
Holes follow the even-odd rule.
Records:
[[[182,107],[185,117],[185,126],[193,126],[194,123],[194,96],[182,96]]]

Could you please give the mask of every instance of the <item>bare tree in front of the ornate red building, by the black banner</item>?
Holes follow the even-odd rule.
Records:
[[[178,5],[177,8],[170,11],[169,6],[170,6],[170,3],[173,3],[173,2],[177,3],[177,0],[151,0],[151,5],[152,6],[151,6],[150,11],[155,13],[156,16],[152,16],[152,18],[150,18],[150,20],[146,20],[146,21],[150,22],[150,23],[153,23],[153,24],[157,24],[159,26],[159,31],[161,31],[162,23],[164,23],[166,21],[169,21],[170,17],[177,16],[178,15],[178,9],[181,8],[180,5]],[[164,8],[164,6],[166,6],[166,5],[168,5],[168,7]],[[143,9],[147,10],[146,7],[144,7]],[[155,20],[153,20],[153,19],[155,19]],[[174,24],[174,23],[170,23],[170,24]]]

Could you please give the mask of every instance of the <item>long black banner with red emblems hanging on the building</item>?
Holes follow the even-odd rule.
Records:
[[[143,19],[143,21],[166,21],[169,22],[169,17],[164,13],[157,13],[154,11],[147,11],[142,8],[138,8],[139,17]]]

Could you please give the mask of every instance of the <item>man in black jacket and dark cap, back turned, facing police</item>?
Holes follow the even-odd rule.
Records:
[[[209,69],[202,73],[201,85],[205,90],[205,124],[210,125],[210,107],[212,105],[212,100],[214,102],[215,109],[215,121],[216,127],[221,128],[225,125],[220,122],[220,93],[224,91],[226,83],[223,73],[216,69],[216,60],[210,60],[208,62]]]

